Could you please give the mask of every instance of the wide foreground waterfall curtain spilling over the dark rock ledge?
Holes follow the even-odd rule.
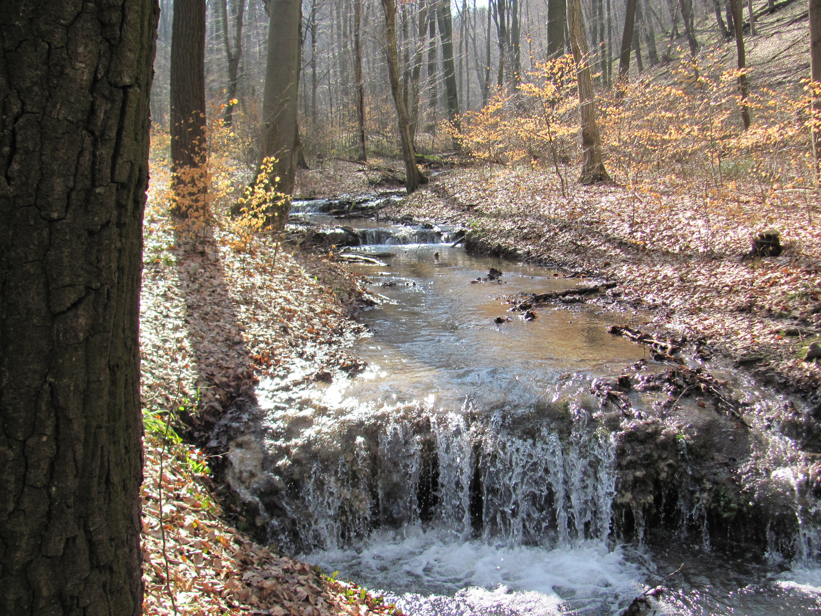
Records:
[[[285,513],[270,523],[271,539],[310,551],[423,526],[509,546],[606,540],[612,436],[586,411],[570,412],[571,428],[561,429],[521,411],[488,421],[419,410],[341,421],[333,434],[311,430],[283,443],[293,462],[280,467],[287,490],[261,496],[269,512]]]

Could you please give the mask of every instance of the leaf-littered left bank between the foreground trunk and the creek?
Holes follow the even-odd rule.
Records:
[[[252,405],[265,375],[303,365],[305,379],[324,379],[355,367],[345,347],[359,327],[349,319],[363,297],[359,281],[264,239],[236,252],[217,232],[205,251],[184,250],[156,205],[144,237],[145,613],[401,614],[256,543],[241,530],[253,524],[215,483],[217,454],[227,452],[190,444],[207,439],[227,411]]]

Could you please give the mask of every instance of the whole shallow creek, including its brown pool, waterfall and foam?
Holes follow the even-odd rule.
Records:
[[[338,223],[322,207],[295,209]],[[612,530],[616,449],[589,390],[644,358],[607,333],[643,315],[569,305],[525,320],[508,297],[576,281],[467,255],[447,228],[345,223],[356,250],[383,261],[352,267],[384,301],[360,317],[365,371],[299,393],[259,386],[278,469],[279,496],[260,498],[273,540],[418,616],[621,614],[682,563],[647,614],[821,610],[810,540],[813,554],[789,563],[714,552],[706,531],[650,547]],[[491,268],[502,275],[488,280]]]

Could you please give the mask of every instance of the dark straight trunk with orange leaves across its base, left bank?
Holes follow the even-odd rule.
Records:
[[[208,218],[205,143],[205,0],[174,0],[171,40],[172,214]]]

